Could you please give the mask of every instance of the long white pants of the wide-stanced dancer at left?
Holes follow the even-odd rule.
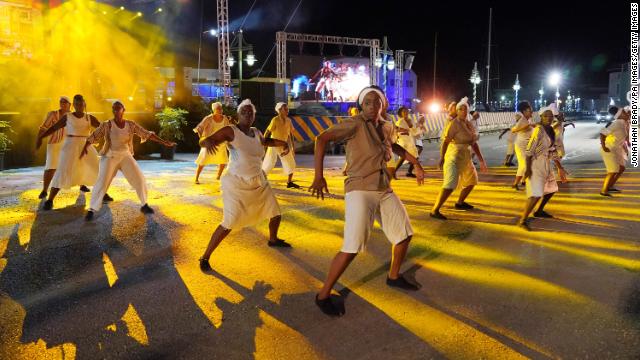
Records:
[[[111,181],[116,176],[116,173],[120,170],[124,178],[127,179],[129,185],[131,185],[138,194],[140,204],[147,203],[147,183],[144,180],[144,175],[140,170],[140,166],[129,153],[120,153],[110,156],[102,156],[100,158],[100,170],[98,171],[98,180],[91,192],[91,202],[89,204],[89,210],[98,211],[102,207],[102,198],[107,193]]]

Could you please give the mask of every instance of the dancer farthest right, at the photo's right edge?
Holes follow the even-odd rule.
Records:
[[[630,114],[626,107],[619,109],[611,126],[607,125],[600,131],[600,154],[607,168],[607,176],[600,190],[602,196],[611,196],[611,192],[620,192],[614,185],[624,173],[628,160]]]

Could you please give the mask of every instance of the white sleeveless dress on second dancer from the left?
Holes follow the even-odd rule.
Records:
[[[64,143],[56,174],[51,181],[52,188],[69,189],[78,185],[93,185],[98,177],[98,152],[93,146],[87,148],[87,155],[80,159],[87,137],[91,134],[91,120],[85,114],[77,118],[67,113]],[[73,136],[72,136],[73,135]]]

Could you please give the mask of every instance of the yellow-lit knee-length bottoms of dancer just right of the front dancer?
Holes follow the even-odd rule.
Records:
[[[442,188],[453,190],[478,184],[478,173],[471,161],[470,145],[449,144],[442,166]]]

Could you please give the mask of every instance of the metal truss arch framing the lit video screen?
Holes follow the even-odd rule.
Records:
[[[295,34],[279,31],[276,33],[276,76],[283,81],[287,77],[287,42],[294,41],[299,44],[334,44],[368,47],[369,51],[369,80],[371,84],[378,85],[378,72],[375,60],[380,54],[380,40],[360,39],[342,36]]]

